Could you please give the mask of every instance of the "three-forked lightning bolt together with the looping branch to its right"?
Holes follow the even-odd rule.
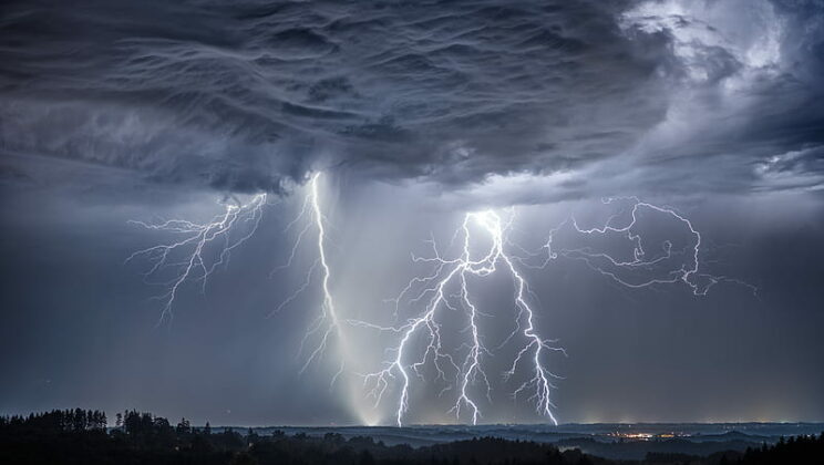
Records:
[[[589,268],[599,273],[609,277],[615,282],[627,288],[646,288],[656,285],[686,285],[694,296],[704,296],[709,289],[719,282],[733,282],[749,287],[753,292],[756,288],[725,276],[715,276],[701,271],[701,252],[702,237],[693,227],[693,224],[683,215],[673,208],[661,207],[649,203],[640,202],[635,197],[606,199],[606,204],[614,202],[630,202],[629,213],[625,210],[607,219],[599,227],[583,228],[575,217],[563,221],[559,226],[550,230],[546,242],[538,252],[528,252],[508,238],[508,231],[512,228],[514,215],[505,223],[501,216],[494,211],[487,210],[482,213],[467,214],[453,237],[463,237],[463,247],[460,256],[454,259],[444,258],[439,251],[434,239],[429,244],[432,246],[433,256],[422,258],[413,256],[415,262],[434,264],[434,270],[423,277],[413,278],[400,292],[391,299],[394,303],[395,314],[400,311],[402,302],[410,306],[422,304],[423,309],[419,317],[412,318],[405,324],[399,327],[383,327],[363,321],[349,320],[349,323],[358,327],[371,328],[383,332],[390,332],[399,335],[395,345],[390,347],[387,353],[389,360],[383,362],[381,370],[363,374],[364,384],[368,386],[368,395],[374,399],[375,405],[382,402],[384,394],[392,383],[398,380],[400,395],[396,401],[395,423],[400,426],[403,423],[405,413],[410,409],[410,389],[413,381],[412,374],[418,378],[421,375],[421,368],[430,363],[437,379],[449,381],[450,386],[441,391],[441,394],[455,388],[455,403],[451,411],[460,418],[462,411],[468,411],[472,423],[476,424],[482,415],[478,399],[473,394],[473,386],[480,384],[486,391],[486,397],[491,402],[491,385],[486,372],[484,371],[484,358],[492,355],[493,351],[511,343],[514,339],[523,340],[519,350],[514,355],[509,369],[504,372],[504,380],[512,379],[518,370],[526,368],[529,376],[513,391],[514,396],[523,393],[529,393],[528,400],[534,402],[536,411],[548,417],[557,424],[554,414],[555,405],[552,403],[550,393],[555,388],[553,381],[558,379],[550,372],[545,363],[546,356],[550,352],[566,352],[555,344],[555,340],[542,338],[535,327],[535,309],[531,304],[532,293],[528,283],[515,264],[527,268],[544,269],[549,266],[550,261],[564,257],[584,261]],[[663,240],[661,250],[657,254],[650,254],[645,249],[647,239],[640,231],[639,215],[642,210],[663,215],[678,224],[684,226],[684,235],[691,237],[689,245],[683,250],[673,250],[672,240]],[[629,218],[624,224],[620,223],[624,215]],[[475,257],[471,249],[475,241],[472,235],[471,226],[480,226],[481,229],[490,236],[491,246],[485,249],[485,254]],[[559,248],[554,240],[556,235],[565,227],[571,229],[579,238],[587,237],[607,237],[616,235],[618,238],[626,238],[632,246],[632,258],[620,259],[615,255],[606,251],[596,251],[591,247],[579,248]],[[507,252],[507,248],[517,250],[524,255]],[[542,257],[538,265],[531,264],[531,259]],[[470,298],[467,278],[486,277],[497,270],[506,272],[513,280],[515,292],[513,296],[514,304],[517,310],[515,329],[509,333],[505,341],[497,348],[487,349],[483,340],[483,331],[478,326],[477,317],[482,314],[475,303]],[[621,272],[628,272],[625,277]],[[459,288],[457,292],[450,293],[447,290],[451,286]],[[456,356],[444,350],[441,318],[444,310],[456,311],[463,309],[466,316],[466,333],[470,334],[468,341],[462,347],[466,349],[466,354],[456,361]],[[415,339],[423,338],[423,350],[415,350]],[[413,353],[422,354],[418,358]],[[449,374],[447,374],[449,373]]]

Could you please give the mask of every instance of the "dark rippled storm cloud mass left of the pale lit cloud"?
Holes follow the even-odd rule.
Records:
[[[568,169],[666,111],[625,2],[24,2],[3,149],[278,190],[311,166],[444,183]]]

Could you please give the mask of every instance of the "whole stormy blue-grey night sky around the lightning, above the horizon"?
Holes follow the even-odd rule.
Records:
[[[3,2],[0,414],[393,424],[396,386],[374,406],[360,378],[391,334],[342,323],[346,350],[301,371],[318,273],[274,313],[317,260],[307,218],[287,227],[322,173],[336,308],[384,326],[420,310],[387,301],[431,272],[411,255],[432,238],[454,257],[468,211],[514,218],[513,254],[546,254],[566,219],[554,246],[630,260],[569,218],[626,224],[634,200],[607,197],[666,206],[700,231],[705,296],[622,286],[575,254],[517,264],[566,350],[545,360],[558,421],[824,421],[823,76],[815,0]],[[255,234],[162,319],[164,275],[126,259],[181,235],[134,221],[208,221],[258,194]],[[635,231],[690,265],[673,217]],[[512,280],[468,286],[495,349]],[[484,354],[490,400],[472,386],[481,422],[546,422],[512,399],[506,351]],[[404,422],[466,422],[442,388],[416,379]]]

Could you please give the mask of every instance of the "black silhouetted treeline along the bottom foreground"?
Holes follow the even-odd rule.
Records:
[[[220,428],[213,432],[181,420],[127,411],[117,414],[114,427],[105,415],[80,409],[29,416],[0,417],[0,464],[184,464],[184,465],[608,465],[608,464],[820,464],[824,463],[824,433],[817,437],[781,440],[773,446],[745,453],[709,457],[650,454],[643,462],[615,462],[560,451],[535,442],[481,437],[413,448],[387,446],[371,437],[346,438],[287,435],[277,431],[259,436]]]

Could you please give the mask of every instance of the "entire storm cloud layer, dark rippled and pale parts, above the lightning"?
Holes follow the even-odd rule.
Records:
[[[37,176],[38,155],[235,192],[330,168],[447,189],[562,173],[576,196],[818,188],[823,18],[766,0],[7,2],[2,175]]]

